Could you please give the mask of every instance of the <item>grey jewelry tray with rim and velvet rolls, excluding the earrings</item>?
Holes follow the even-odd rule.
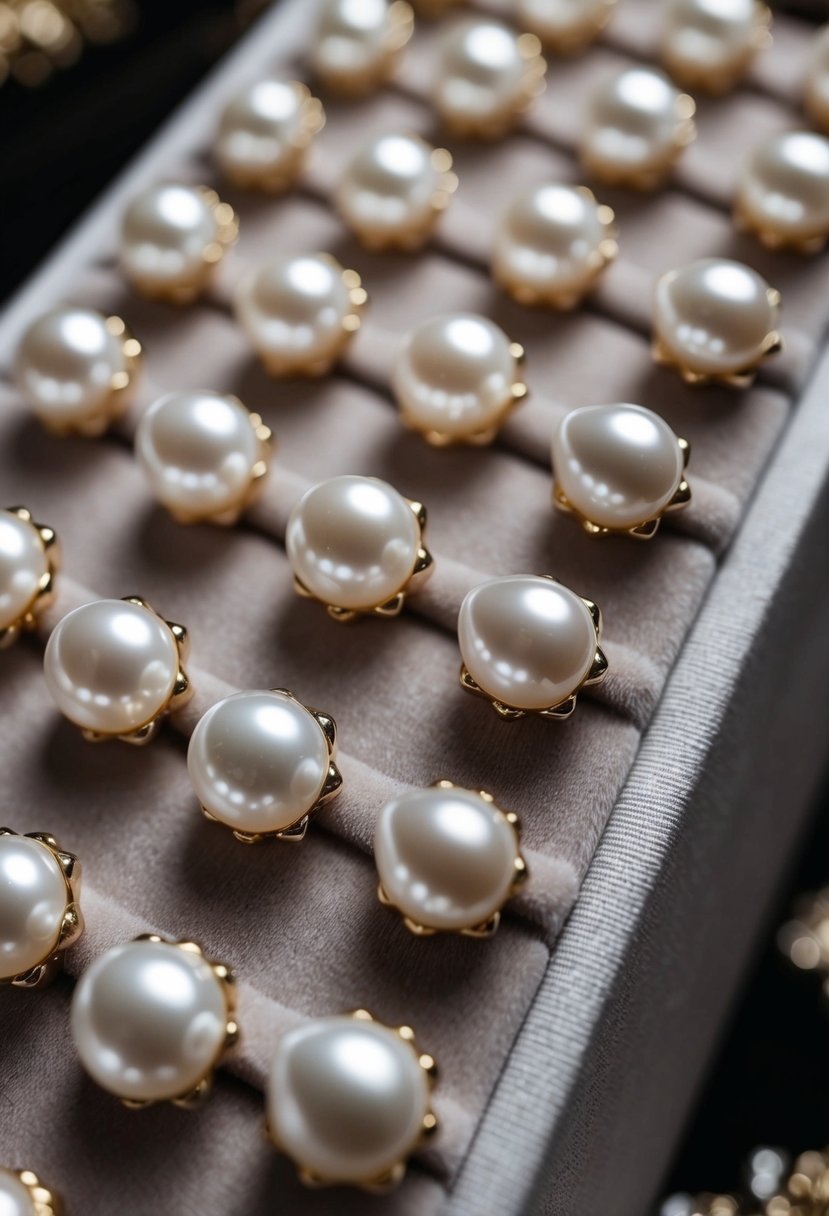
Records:
[[[650,54],[648,0],[621,0],[586,56],[553,60],[546,94],[496,143],[441,136],[427,96],[439,27],[423,23],[378,95],[342,103],[323,94],[327,125],[297,190],[273,199],[227,188],[210,162],[219,108],[267,68],[304,74],[308,7],[293,0],[255,27],[0,328],[1,500],[29,506],[64,550],[43,636],[78,603],[145,596],[190,629],[196,688],[150,748],[91,747],[49,699],[43,637],[2,655],[2,818],[50,831],[79,855],[88,929],[51,990],[0,990],[0,1156],[36,1170],[84,1216],[255,1216],[275,1205],[462,1216],[534,1204],[562,1216],[633,1216],[670,1150],[820,762],[808,721],[827,699],[825,630],[814,629],[808,655],[795,648],[819,620],[827,582],[825,559],[811,562],[827,514],[818,495],[829,420],[813,377],[829,383],[829,367],[816,373],[828,263],[763,252],[729,216],[741,151],[802,123],[812,27],[780,17],[748,84],[700,103],[698,142],[665,191],[597,188],[616,210],[620,258],[581,309],[557,315],[492,286],[494,218],[525,185],[581,180],[574,153],[586,96]],[[366,253],[329,206],[349,156],[393,129],[445,142],[461,180],[435,238],[414,255]],[[213,289],[187,309],[142,300],[115,265],[124,202],[159,179],[216,185],[241,219]],[[283,249],[333,253],[370,294],[363,328],[321,381],[269,379],[232,316],[238,276]],[[655,277],[709,254],[745,260],[783,293],[785,351],[741,394],[688,388],[649,358]],[[101,440],[45,434],[11,381],[21,330],[61,300],[117,313],[145,348],[135,405]],[[451,309],[485,313],[526,348],[529,400],[491,449],[428,447],[401,428],[387,387],[404,332]],[[276,434],[264,496],[231,530],[170,522],[131,456],[141,409],[187,388],[236,393]],[[591,540],[551,503],[558,420],[625,400],[656,410],[692,444],[693,503],[647,545]],[[383,477],[429,510],[435,572],[396,621],[345,627],[293,592],[287,514],[306,486],[338,473]],[[504,724],[458,687],[461,599],[508,573],[554,574],[603,609],[610,671],[568,724]],[[221,696],[273,686],[337,720],[345,788],[301,846],[246,848],[199,816],[186,742]],[[439,777],[491,790],[523,823],[531,880],[489,942],[413,939],[376,899],[379,806]],[[717,940],[726,923],[728,945]],[[71,1045],[73,979],[142,931],[194,938],[238,972],[242,1040],[196,1115],[123,1110],[83,1076]],[[413,1025],[441,1070],[441,1130],[385,1198],[304,1190],[260,1135],[277,1036],[359,1006]],[[631,1158],[633,1130],[649,1137],[647,1162]]]

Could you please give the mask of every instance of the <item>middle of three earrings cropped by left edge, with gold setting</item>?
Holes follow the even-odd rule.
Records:
[[[79,897],[80,862],[55,837],[0,828],[0,984],[53,978],[84,931]]]

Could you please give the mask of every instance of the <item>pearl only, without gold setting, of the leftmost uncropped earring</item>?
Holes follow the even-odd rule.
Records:
[[[34,321],[17,349],[21,393],[45,423],[66,427],[94,418],[126,377],[123,337],[86,308],[56,308]]]

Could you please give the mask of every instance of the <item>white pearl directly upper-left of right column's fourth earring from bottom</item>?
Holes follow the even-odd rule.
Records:
[[[519,353],[503,330],[474,313],[421,321],[391,371],[404,421],[438,440],[487,434],[523,395]]]

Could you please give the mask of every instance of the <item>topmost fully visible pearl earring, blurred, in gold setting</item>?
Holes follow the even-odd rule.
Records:
[[[535,34],[496,21],[453,22],[442,35],[433,100],[457,135],[507,131],[543,89],[545,61]]]

